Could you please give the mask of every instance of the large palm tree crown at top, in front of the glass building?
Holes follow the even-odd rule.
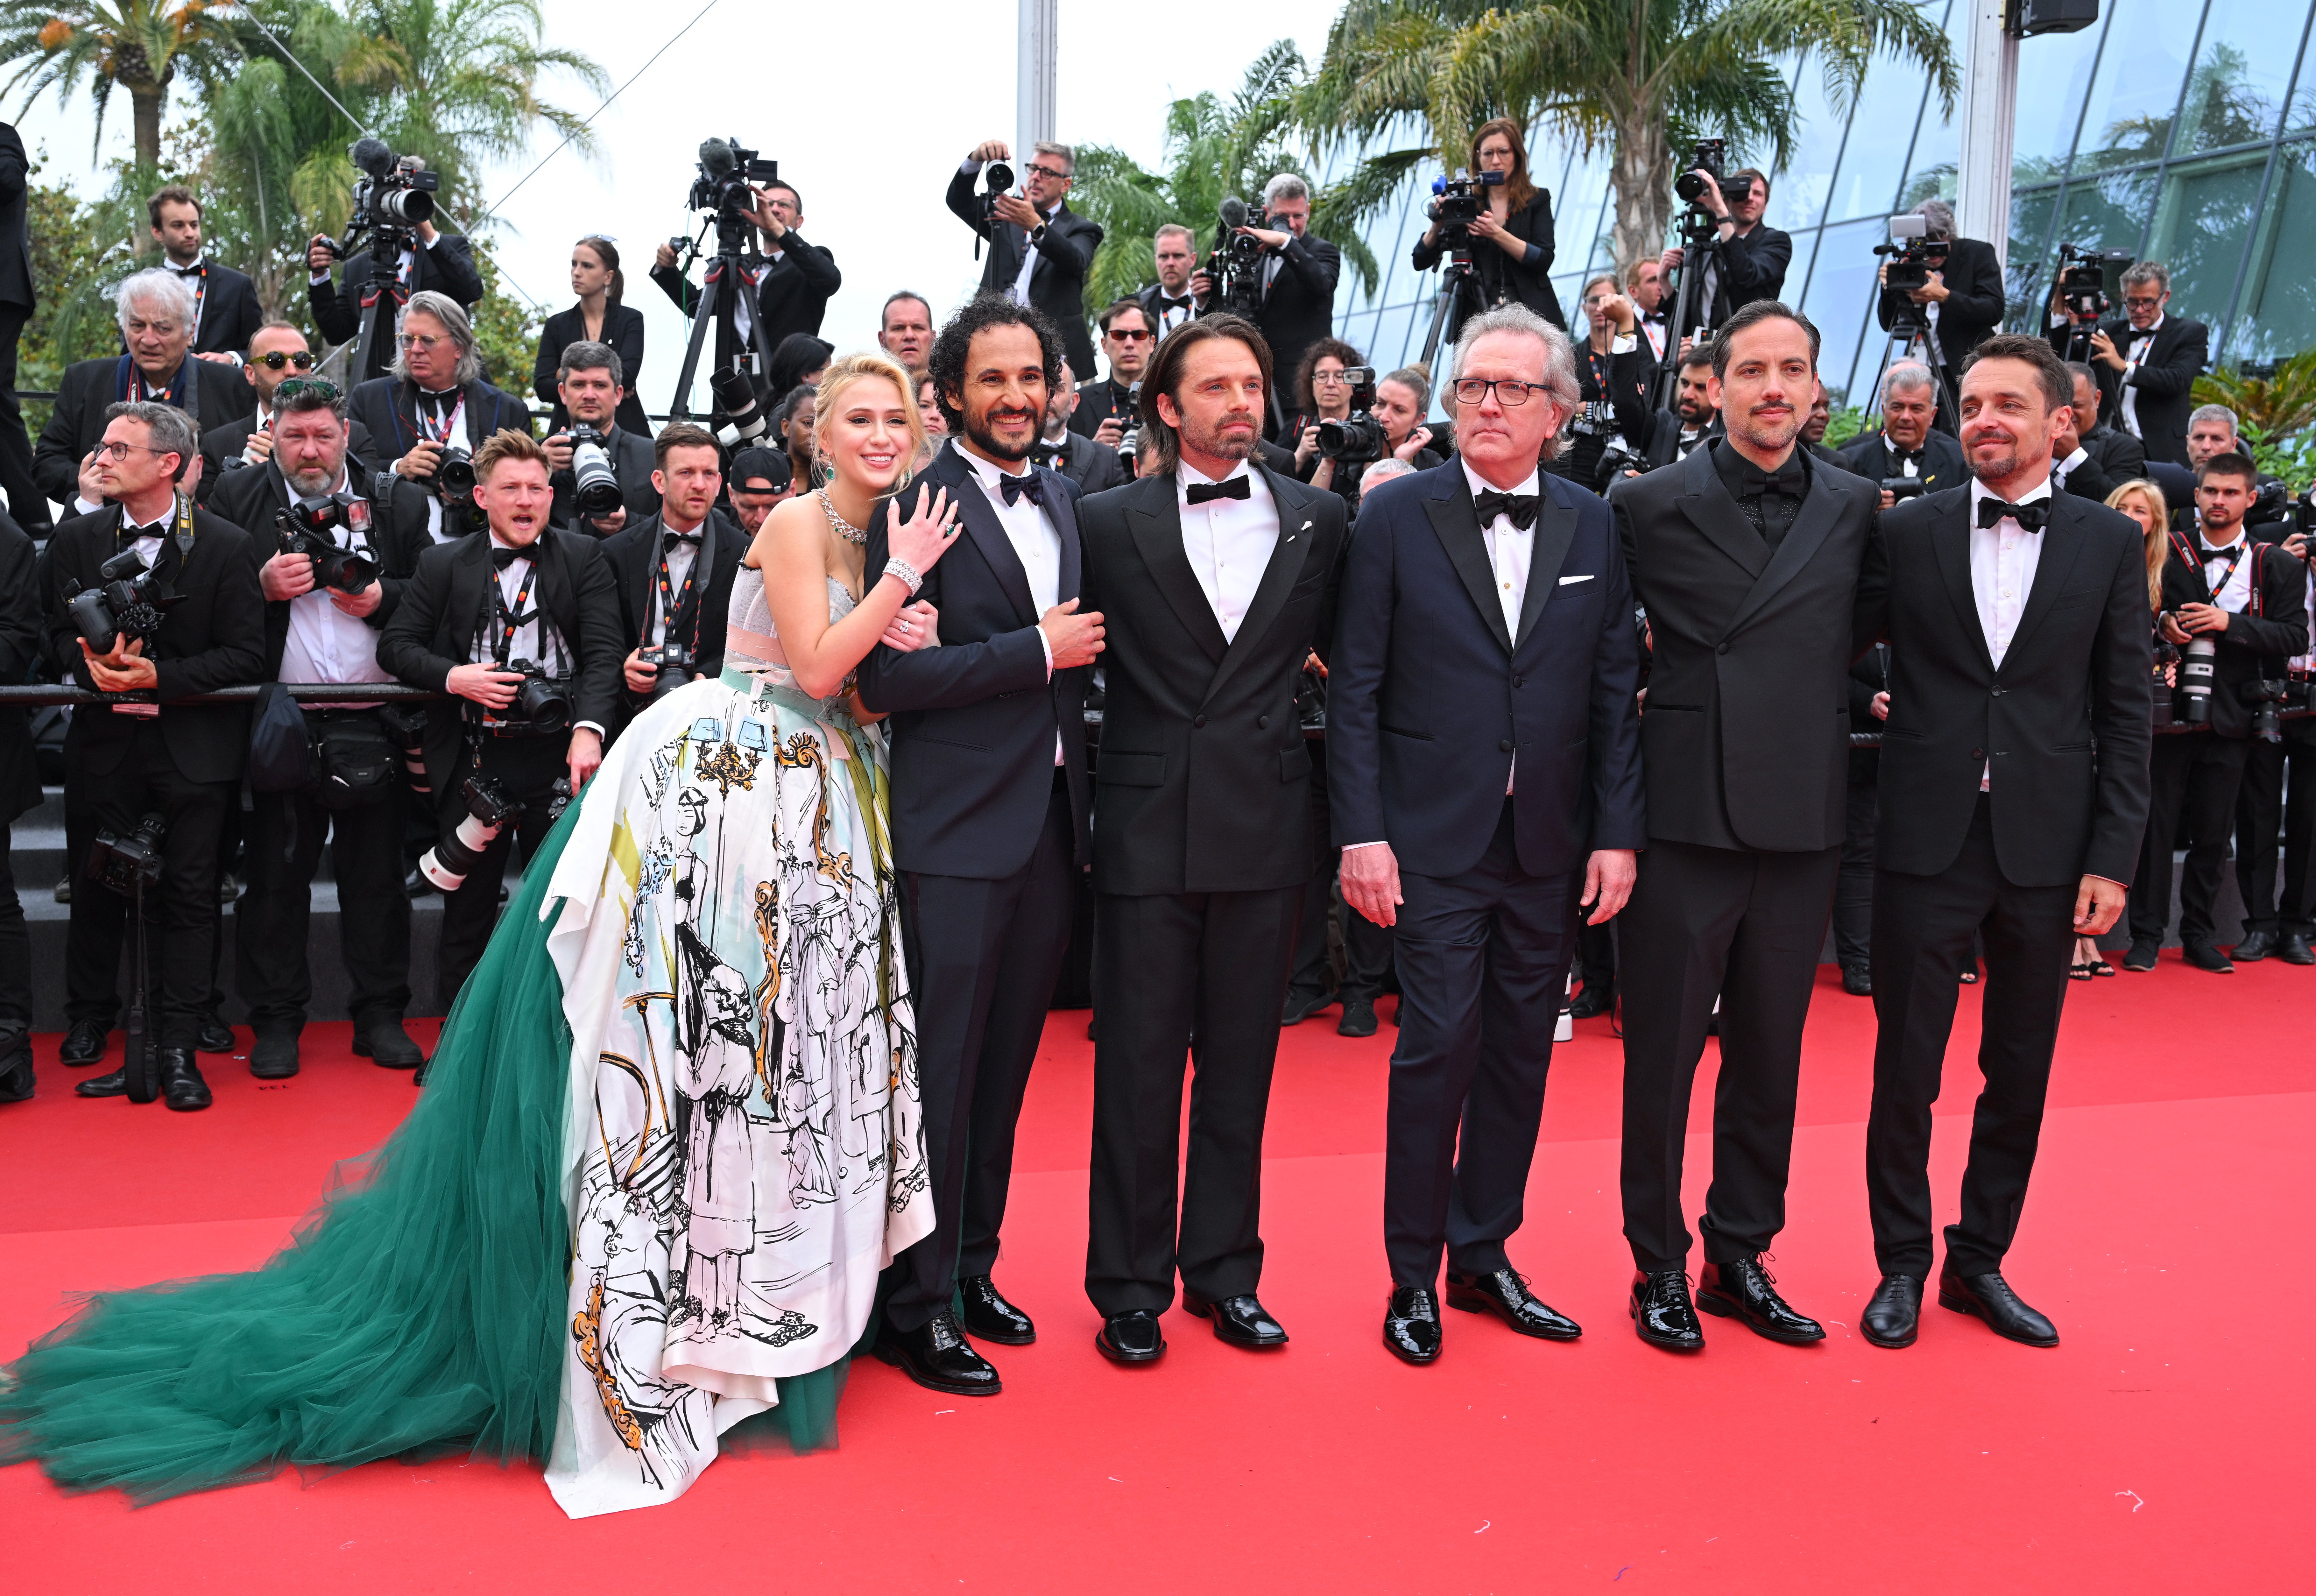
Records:
[[[1366,158],[1348,188],[1373,206],[1427,160],[1461,169],[1492,116],[1542,123],[1584,153],[1607,146],[1624,271],[1665,243],[1672,155],[1691,134],[1776,167],[1793,155],[1800,116],[1779,58],[1818,56],[1827,100],[1848,111],[1876,53],[1927,67],[1952,109],[1952,49],[1913,0],[1348,0],[1297,120],[1320,148],[1429,132]]]

